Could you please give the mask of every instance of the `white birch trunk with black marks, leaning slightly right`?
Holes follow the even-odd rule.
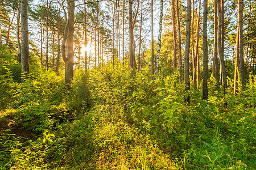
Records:
[[[172,0],[174,2],[175,0]],[[174,9],[174,7],[172,8]],[[172,13],[174,14],[174,13]],[[173,16],[174,18],[174,16]],[[161,50],[161,36],[162,36],[162,23],[163,23],[163,0],[160,0],[160,20],[159,20],[159,32],[158,32],[158,52],[156,54],[156,63],[155,63],[155,76],[158,75],[159,71],[159,59],[160,59],[160,50]]]

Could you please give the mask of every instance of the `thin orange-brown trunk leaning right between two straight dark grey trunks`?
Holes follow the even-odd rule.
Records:
[[[199,67],[199,27],[200,27],[200,14],[201,14],[201,0],[199,0],[199,10],[197,16],[197,25],[196,25],[196,54],[195,54],[195,61],[194,61],[194,69],[193,71],[193,84],[196,84],[197,80],[197,87],[199,87],[199,80],[200,80],[200,67]],[[197,71],[197,78],[196,78],[196,71]]]

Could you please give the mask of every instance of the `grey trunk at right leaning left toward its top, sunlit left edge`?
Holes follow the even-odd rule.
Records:
[[[220,56],[220,69],[221,69],[221,78],[222,78],[222,87],[224,88],[224,92],[227,88],[227,82],[226,82],[226,68],[225,68],[225,61],[224,61],[224,44],[222,44],[222,39],[224,37],[222,36],[222,31],[224,29],[222,28],[222,10],[221,10],[221,0],[218,0],[218,56]]]

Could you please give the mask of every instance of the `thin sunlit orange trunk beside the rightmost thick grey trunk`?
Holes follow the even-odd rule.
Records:
[[[237,86],[238,86],[238,67],[240,66],[240,57],[239,57],[239,23],[237,24],[237,39],[236,39],[236,62],[234,67],[234,95],[236,95]]]

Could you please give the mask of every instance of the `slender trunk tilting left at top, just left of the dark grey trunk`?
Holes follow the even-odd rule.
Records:
[[[178,26],[178,33],[179,33],[179,82],[181,83],[181,67],[182,67],[182,57],[181,57],[181,34],[180,34],[180,14],[179,14],[179,0],[176,1],[177,7],[177,26]]]

